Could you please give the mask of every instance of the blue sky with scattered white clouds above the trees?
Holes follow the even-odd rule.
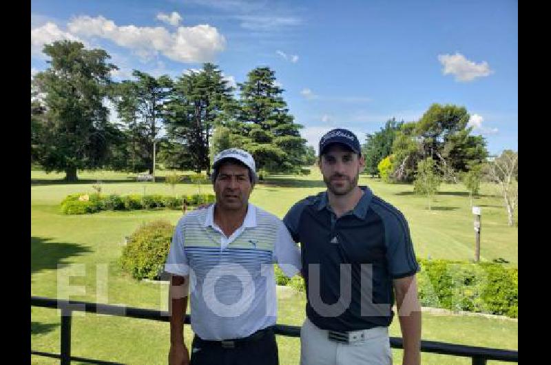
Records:
[[[267,65],[315,149],[333,127],[363,142],[432,103],[466,107],[490,153],[518,149],[517,1],[33,0],[31,74],[57,39],[107,50],[115,80],[211,61],[233,83]]]

